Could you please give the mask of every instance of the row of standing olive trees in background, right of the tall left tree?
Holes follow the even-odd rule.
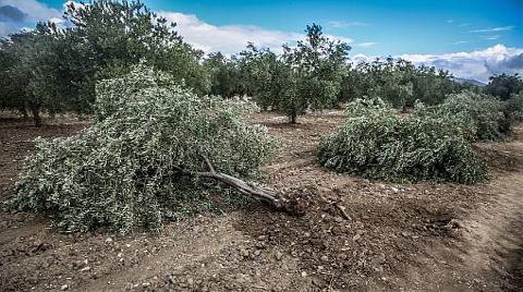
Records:
[[[283,45],[278,54],[250,44],[236,56],[210,54],[205,65],[211,93],[223,97],[248,95],[263,109],[284,111],[291,123],[308,110],[336,107],[356,98],[380,97],[398,107],[441,102],[467,87],[447,71],[415,66],[404,60],[352,64],[346,44],[326,37],[319,25],[307,26],[295,47]]]

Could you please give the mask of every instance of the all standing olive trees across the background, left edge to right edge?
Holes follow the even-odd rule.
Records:
[[[0,109],[93,112],[95,84],[121,76],[145,61],[170,73],[198,95],[252,96],[263,109],[282,110],[291,123],[306,110],[336,107],[356,98],[380,97],[397,108],[419,100],[440,104],[461,92],[447,71],[415,66],[404,60],[348,62],[350,47],[326,37],[319,25],[307,26],[295,46],[282,53],[250,44],[233,57],[204,58],[175,32],[175,24],[138,1],[71,2],[66,28],[38,24],[0,40]],[[507,100],[523,88],[518,75],[492,76],[484,92]]]

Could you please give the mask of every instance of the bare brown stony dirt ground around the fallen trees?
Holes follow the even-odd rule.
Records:
[[[170,223],[159,236],[114,236],[62,234],[47,218],[2,211],[0,291],[523,291],[522,127],[512,142],[477,145],[487,184],[396,184],[316,163],[318,139],[341,112],[297,125],[277,113],[252,119],[281,141],[265,182],[295,194],[304,216],[253,203]],[[84,126],[1,120],[0,198],[34,137]]]

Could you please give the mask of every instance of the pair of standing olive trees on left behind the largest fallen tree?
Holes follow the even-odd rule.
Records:
[[[196,93],[210,86],[203,52],[139,1],[71,2],[63,17],[66,28],[39,23],[0,41],[1,109],[31,110],[37,125],[42,110],[93,112],[95,84],[141,60]]]

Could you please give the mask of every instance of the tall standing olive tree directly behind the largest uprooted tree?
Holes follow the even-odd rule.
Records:
[[[89,80],[92,86],[111,77],[107,73],[114,70],[110,69],[120,69],[117,72],[121,74],[146,60],[196,93],[208,92],[209,78],[200,64],[203,52],[183,41],[174,23],[158,16],[141,1],[97,0],[87,5],[71,2],[64,19],[72,24],[64,37],[77,44],[73,45],[74,54],[89,60],[84,80]]]

